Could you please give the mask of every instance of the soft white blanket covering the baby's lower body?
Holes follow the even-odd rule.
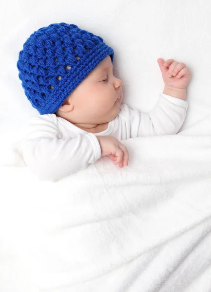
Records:
[[[210,292],[211,115],[56,183],[1,167],[1,292]],[[8,183],[10,178],[10,183]]]

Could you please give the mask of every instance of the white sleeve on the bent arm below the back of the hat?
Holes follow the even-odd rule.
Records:
[[[40,180],[57,181],[86,168],[101,156],[98,140],[92,133],[78,133],[77,137],[67,139],[59,137],[59,129],[48,115],[30,121],[22,155]]]

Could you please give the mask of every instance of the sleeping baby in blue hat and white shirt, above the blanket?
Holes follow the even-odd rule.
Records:
[[[113,74],[113,60],[113,49],[101,37],[75,24],[50,24],[24,43],[19,78],[40,116],[30,120],[22,156],[40,180],[57,181],[101,156],[127,166],[129,153],[120,140],[181,128],[191,78],[186,65],[157,59],[165,87],[147,114],[121,104],[122,81]]]

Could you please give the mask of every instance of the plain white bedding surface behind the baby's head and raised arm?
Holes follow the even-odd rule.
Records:
[[[1,1],[0,124],[20,128],[39,113],[24,94],[16,67],[26,39],[50,23],[77,24],[115,51],[123,103],[149,112],[164,83],[157,58],[189,67],[189,108],[180,130],[211,113],[211,3],[206,0]]]

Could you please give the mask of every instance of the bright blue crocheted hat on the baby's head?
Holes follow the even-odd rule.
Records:
[[[19,52],[22,87],[40,114],[55,113],[78,84],[114,50],[75,24],[52,23],[34,32]]]

